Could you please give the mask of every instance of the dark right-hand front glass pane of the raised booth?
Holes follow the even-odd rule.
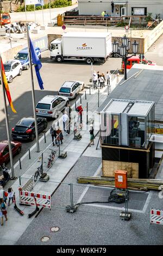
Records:
[[[129,147],[145,148],[145,118],[128,117]]]

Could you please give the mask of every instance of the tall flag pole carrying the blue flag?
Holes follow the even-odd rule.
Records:
[[[38,136],[38,129],[37,129],[37,118],[36,118],[36,111],[35,111],[35,90],[34,90],[34,79],[33,79],[33,70],[32,70],[32,57],[31,57],[31,52],[30,52],[28,23],[26,24],[26,28],[27,28],[27,39],[28,39],[30,75],[31,75],[31,82],[32,82],[32,101],[33,101],[33,113],[34,113],[34,119],[35,119],[36,145],[37,145],[37,152],[40,152],[39,136]]]

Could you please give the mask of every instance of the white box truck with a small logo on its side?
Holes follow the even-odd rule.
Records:
[[[50,44],[51,59],[85,60],[87,64],[106,60],[112,52],[111,33],[67,32]]]

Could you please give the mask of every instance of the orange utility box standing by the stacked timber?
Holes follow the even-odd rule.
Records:
[[[127,170],[115,170],[115,187],[127,188]]]

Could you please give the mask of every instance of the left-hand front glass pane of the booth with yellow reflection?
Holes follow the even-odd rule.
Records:
[[[102,143],[119,145],[119,115],[111,114],[110,118],[107,118],[105,114],[104,119],[105,119],[104,120],[105,136],[101,136]],[[104,135],[104,132],[103,132],[103,135]]]

